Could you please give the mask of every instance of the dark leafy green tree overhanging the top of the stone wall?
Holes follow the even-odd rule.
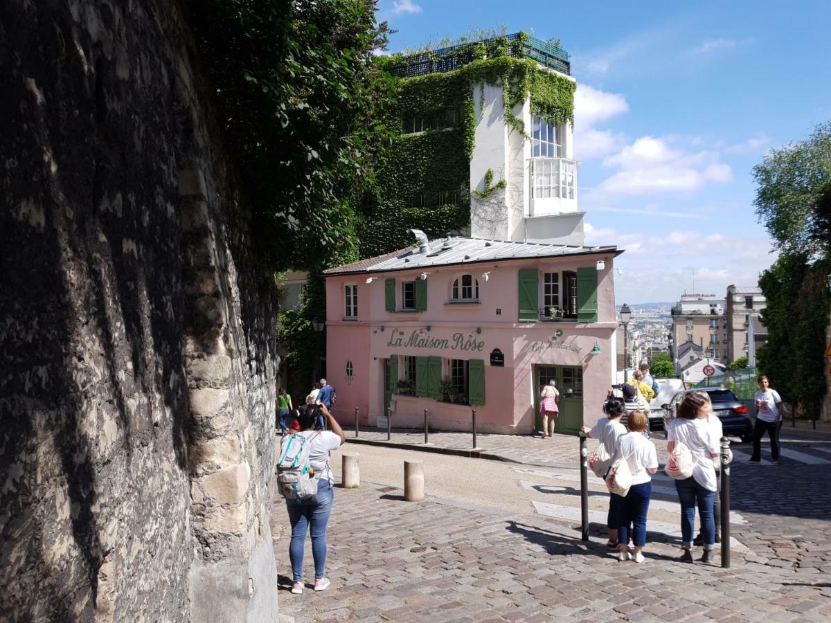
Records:
[[[376,0],[191,0],[226,150],[275,269],[356,259],[353,209],[394,79]]]

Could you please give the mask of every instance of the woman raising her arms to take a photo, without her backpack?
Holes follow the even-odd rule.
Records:
[[[318,412],[328,420],[330,430],[314,430]],[[286,498],[288,519],[292,523],[292,540],[288,544],[288,557],[292,562],[292,592],[300,595],[303,591],[303,545],[306,532],[312,534],[312,557],[314,557],[314,590],[325,591],[329,586],[326,577],[326,529],[335,493],[332,489],[332,469],[329,467],[329,453],[338,449],[347,440],[341,425],[329,413],[325,405],[303,405],[299,410],[297,423],[300,432],[283,442],[288,445],[292,438],[302,437],[309,443],[308,463],[314,470],[312,478],[317,479],[317,493],[307,500]],[[298,441],[295,439],[295,441]],[[283,452],[281,452],[281,455]],[[279,473],[279,471],[278,471]],[[278,478],[279,479],[279,478]]]

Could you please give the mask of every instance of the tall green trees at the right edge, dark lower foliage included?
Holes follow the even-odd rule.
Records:
[[[759,367],[785,402],[816,417],[827,391],[831,123],[819,125],[807,140],[772,150],[754,175],[756,213],[780,250],[760,277],[768,341],[758,353]]]

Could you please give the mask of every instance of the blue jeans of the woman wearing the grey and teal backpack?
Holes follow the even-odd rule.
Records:
[[[326,527],[335,492],[325,478],[317,483],[317,493],[306,502],[286,500],[288,519],[292,522],[292,541],[288,544],[288,558],[292,562],[294,581],[303,581],[303,546],[306,531],[312,532],[312,557],[314,577],[319,580],[326,575]]]

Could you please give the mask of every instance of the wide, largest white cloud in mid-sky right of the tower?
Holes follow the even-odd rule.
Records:
[[[727,164],[718,162],[718,153],[698,151],[687,153],[673,149],[671,138],[642,136],[603,165],[619,169],[602,181],[595,190],[593,203],[601,203],[609,195],[637,195],[669,192],[691,192],[706,184],[723,184],[733,179]]]

